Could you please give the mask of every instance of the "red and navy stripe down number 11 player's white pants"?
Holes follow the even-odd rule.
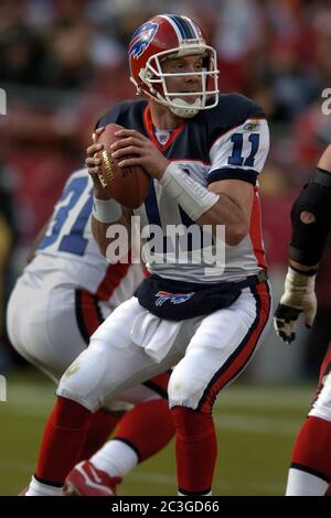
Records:
[[[214,401],[220,390],[235,378],[253,355],[257,342],[265,328],[270,313],[270,294],[266,282],[259,283],[253,289],[253,294],[257,304],[257,314],[248,333],[238,345],[236,350],[231,355],[222,368],[214,375],[204,391],[197,409],[200,412],[211,413]]]

